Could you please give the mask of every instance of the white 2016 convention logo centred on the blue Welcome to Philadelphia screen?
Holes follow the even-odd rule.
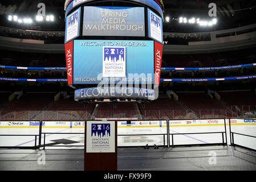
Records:
[[[103,47],[103,77],[126,77],[125,47]]]

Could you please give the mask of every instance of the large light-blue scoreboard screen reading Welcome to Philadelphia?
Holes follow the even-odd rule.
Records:
[[[74,40],[74,84],[154,84],[154,41]]]

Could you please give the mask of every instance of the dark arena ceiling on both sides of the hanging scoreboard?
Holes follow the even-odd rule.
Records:
[[[35,16],[38,3],[45,3],[46,14],[53,14],[55,22],[51,24],[34,24],[42,30],[64,31],[64,0],[2,0],[0,2],[1,26],[22,28],[6,20],[8,14]],[[214,27],[202,28],[192,24],[180,24],[178,18],[196,17],[207,19],[209,3],[216,3],[218,24]],[[170,21],[164,23],[164,32],[200,32],[234,28],[256,23],[256,0],[165,0],[164,16]],[[16,27],[15,27],[16,26]],[[17,27],[18,26],[18,27]],[[29,27],[25,27],[29,28]],[[32,28],[32,27],[31,27]]]

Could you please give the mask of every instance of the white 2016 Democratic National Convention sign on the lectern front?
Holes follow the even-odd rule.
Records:
[[[87,121],[86,152],[115,152],[115,122]]]

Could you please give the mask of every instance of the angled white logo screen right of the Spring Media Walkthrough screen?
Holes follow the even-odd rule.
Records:
[[[162,18],[148,9],[148,36],[157,42],[164,44],[162,34]]]

